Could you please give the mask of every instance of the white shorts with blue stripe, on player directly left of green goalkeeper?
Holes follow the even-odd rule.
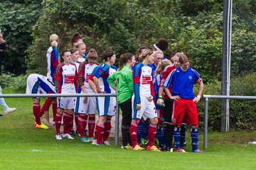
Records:
[[[114,97],[97,97],[96,101],[99,116],[113,116],[117,112],[117,102]]]

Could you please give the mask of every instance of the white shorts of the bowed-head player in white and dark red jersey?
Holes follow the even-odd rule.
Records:
[[[81,91],[80,94],[83,94]],[[87,103],[83,102],[84,97],[75,98],[75,113],[95,115],[96,112],[96,98],[87,97]]]

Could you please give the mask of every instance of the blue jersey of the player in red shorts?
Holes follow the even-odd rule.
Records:
[[[188,68],[186,72],[181,67],[174,69],[164,81],[163,86],[169,88],[172,84],[172,96],[180,96],[185,99],[195,98],[193,94],[193,84],[202,81],[200,74],[196,70]]]

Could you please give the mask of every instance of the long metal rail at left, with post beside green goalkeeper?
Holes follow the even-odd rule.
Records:
[[[34,98],[34,97],[115,97],[117,94],[0,94],[0,98]],[[117,113],[114,127],[114,145],[119,142],[119,106],[117,103]]]

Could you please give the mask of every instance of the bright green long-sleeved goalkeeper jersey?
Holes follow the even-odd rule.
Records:
[[[124,67],[117,72],[114,72],[112,76],[107,79],[107,82],[113,88],[117,87],[117,102],[123,103],[129,98],[132,98],[133,94],[133,80],[132,80],[132,69],[124,65]],[[114,84],[115,82],[115,84]]]

